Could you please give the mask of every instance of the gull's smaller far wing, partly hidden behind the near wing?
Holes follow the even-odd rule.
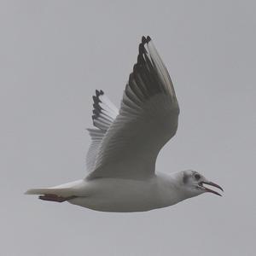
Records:
[[[102,143],[102,138],[105,136],[113,120],[119,113],[112,102],[104,95],[102,90],[96,90],[96,95],[93,98],[93,125],[96,128],[87,129],[90,134],[91,143],[86,155],[86,167],[88,172],[92,172],[96,166],[96,157]]]

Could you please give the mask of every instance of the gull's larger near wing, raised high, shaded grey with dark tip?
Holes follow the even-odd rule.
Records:
[[[178,113],[169,73],[151,38],[143,37],[119,114],[104,133],[87,178],[153,176],[160,149],[177,131]]]

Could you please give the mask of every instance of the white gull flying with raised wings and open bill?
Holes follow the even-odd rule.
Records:
[[[223,189],[199,172],[155,172],[160,149],[176,134],[179,107],[172,80],[150,37],[139,44],[137,63],[120,108],[102,90],[93,96],[91,144],[83,179],[29,189],[44,201],[68,201],[102,212],[144,212]]]

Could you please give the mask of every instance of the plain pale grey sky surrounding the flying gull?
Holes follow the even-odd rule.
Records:
[[[0,5],[0,255],[255,255],[254,1]],[[104,213],[23,195],[85,176],[91,96],[119,106],[142,35],[181,108],[157,169],[195,169],[224,197]]]

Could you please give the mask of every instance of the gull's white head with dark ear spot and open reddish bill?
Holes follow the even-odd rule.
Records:
[[[204,186],[205,184],[224,191],[224,189],[222,189],[218,184],[208,181],[206,177],[192,170],[183,171],[181,178],[182,178],[183,189],[189,195],[191,195],[191,197],[195,195],[201,195],[202,193],[206,193],[206,192],[210,192],[215,195],[220,195],[217,191],[214,191],[208,187],[205,187]]]

